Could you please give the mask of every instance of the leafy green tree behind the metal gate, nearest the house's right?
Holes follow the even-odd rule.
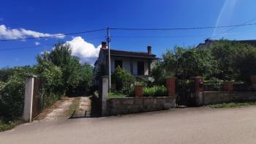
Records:
[[[211,69],[210,58],[208,50],[176,47],[174,51],[167,50],[163,55],[162,67],[165,73],[178,78],[203,76]]]

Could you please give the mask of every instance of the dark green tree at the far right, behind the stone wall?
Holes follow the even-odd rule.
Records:
[[[206,49],[211,51],[214,67],[209,77],[248,81],[256,72],[256,49],[252,45],[221,39]]]

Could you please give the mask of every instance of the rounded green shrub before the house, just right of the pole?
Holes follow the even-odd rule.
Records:
[[[129,89],[132,87],[134,77],[129,72],[117,67],[115,72],[112,74],[113,83],[116,84],[116,91],[121,93],[128,94]]]

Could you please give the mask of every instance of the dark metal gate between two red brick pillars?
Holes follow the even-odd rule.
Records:
[[[195,106],[195,80],[178,77],[176,79],[176,105]]]

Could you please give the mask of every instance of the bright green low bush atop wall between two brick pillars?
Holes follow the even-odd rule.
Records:
[[[143,88],[143,96],[167,96],[167,88],[165,86],[153,86],[151,88]]]

